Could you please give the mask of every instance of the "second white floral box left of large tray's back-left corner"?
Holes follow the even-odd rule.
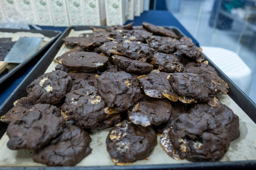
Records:
[[[53,26],[50,2],[48,0],[33,0],[40,26]]]

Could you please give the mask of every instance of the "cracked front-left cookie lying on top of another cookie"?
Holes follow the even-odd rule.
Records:
[[[65,121],[60,109],[50,104],[35,104],[7,128],[8,148],[39,149],[63,132]]]

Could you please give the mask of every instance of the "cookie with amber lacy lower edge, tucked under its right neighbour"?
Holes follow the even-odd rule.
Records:
[[[139,76],[138,79],[144,94],[157,99],[167,98],[174,102],[179,100],[179,96],[173,92],[168,82],[168,75],[169,73],[153,70],[147,75]]]

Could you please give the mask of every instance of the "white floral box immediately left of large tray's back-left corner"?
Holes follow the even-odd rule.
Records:
[[[67,4],[65,0],[49,0],[53,15],[54,26],[69,26]]]

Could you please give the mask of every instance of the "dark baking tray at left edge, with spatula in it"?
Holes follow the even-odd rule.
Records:
[[[37,56],[43,54],[43,52],[46,52],[45,49],[47,49],[49,46],[51,46],[54,41],[61,35],[61,31],[58,30],[18,30],[18,29],[0,29],[0,32],[10,32],[10,33],[16,33],[16,32],[31,32],[31,33],[40,33],[43,34],[46,37],[52,38],[51,41],[49,41],[47,44],[45,44],[42,48],[40,48],[37,52],[35,52],[32,56],[27,58],[24,62],[17,65],[14,69],[12,69],[8,74],[6,74],[4,77],[0,79],[0,85],[6,81],[8,78],[10,78],[15,72],[17,72],[20,68],[25,67],[31,60],[36,58]],[[39,58],[38,58],[39,59]]]

